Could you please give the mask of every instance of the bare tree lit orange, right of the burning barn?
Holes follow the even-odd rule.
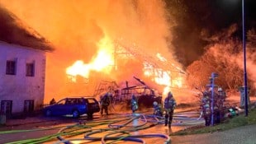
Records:
[[[216,85],[225,89],[237,89],[243,86],[243,71],[239,67],[237,58],[241,43],[236,39],[223,40],[209,45],[198,61],[187,67],[189,76],[188,86],[206,86],[211,77],[211,72],[216,72],[219,77]]]

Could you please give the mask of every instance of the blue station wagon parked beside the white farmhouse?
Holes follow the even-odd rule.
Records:
[[[92,114],[99,111],[99,103],[93,97],[64,98],[54,105],[46,106],[44,109],[46,116],[62,116],[71,114],[73,118],[78,118],[83,114],[87,114],[88,118],[92,118]]]

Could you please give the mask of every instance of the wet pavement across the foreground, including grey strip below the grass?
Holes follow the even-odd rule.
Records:
[[[145,123],[145,119],[142,117],[135,118],[138,115],[147,115],[147,123]],[[134,136],[133,140],[137,140],[137,142],[130,142],[130,141],[120,141],[117,143],[138,143],[139,140],[146,143],[154,143],[154,144],[163,144],[166,143],[167,137],[171,132],[177,132],[179,130],[189,128],[195,125],[204,124],[202,119],[198,119],[199,114],[197,111],[189,111],[189,112],[176,112],[173,118],[172,128],[168,128],[164,126],[164,119],[159,118],[158,124],[154,125],[156,122],[155,118],[151,118],[150,114],[147,112],[143,112],[140,114],[132,114],[130,113],[122,113],[122,114],[110,114],[100,116],[99,114],[93,115],[93,120],[87,120],[86,116],[83,118],[64,118],[64,117],[27,117],[27,118],[20,118],[20,119],[7,119],[7,125],[5,127],[0,127],[1,132],[13,132],[15,130],[35,130],[39,129],[38,131],[31,131],[31,132],[15,132],[15,133],[0,133],[0,143],[7,143],[7,142],[14,142],[21,140],[30,140],[31,138],[41,138],[41,137],[49,137],[53,134],[59,133],[60,131],[70,130],[69,132],[73,131],[73,125],[80,125],[83,127],[90,128],[95,133],[90,135],[92,138],[96,137],[107,137],[107,135],[111,135],[111,132],[116,132],[115,130],[105,131],[109,127],[109,123],[105,123],[106,121],[115,122],[116,126],[123,126],[120,133],[116,133],[115,135],[111,136],[120,136],[129,134]],[[117,123],[118,120],[125,119]],[[130,120],[130,118],[135,118]],[[128,123],[130,120],[130,123]],[[102,124],[97,124],[102,123]],[[124,124],[127,123],[127,124]],[[92,126],[93,124],[96,124]],[[152,124],[154,126],[152,126]],[[125,126],[124,126],[125,125]],[[149,128],[143,128],[144,126],[152,126]],[[141,130],[133,131],[132,128],[141,128]],[[82,128],[85,130],[86,128]],[[7,131],[11,130],[11,131]],[[96,132],[99,130],[99,132]],[[75,132],[80,132],[81,129],[74,130]],[[90,131],[90,132],[92,132]],[[89,132],[89,131],[88,131]],[[68,132],[66,132],[68,133]],[[82,134],[78,134],[73,137],[59,137],[59,139],[67,140],[67,139],[76,139],[73,143],[101,143],[100,140],[98,141],[85,141],[84,137],[86,136],[82,132]],[[167,136],[167,137],[165,137]],[[53,136],[54,138],[50,141],[40,142],[40,143],[61,143],[57,136]],[[212,132],[212,133],[205,133],[205,134],[197,134],[197,135],[187,135],[187,136],[171,136],[170,142],[174,144],[256,144],[256,125],[244,126],[240,128],[230,129],[225,132]],[[108,142],[108,141],[107,141]],[[140,142],[140,143],[142,143]],[[19,142],[20,143],[20,142]],[[29,143],[25,142],[25,143]]]

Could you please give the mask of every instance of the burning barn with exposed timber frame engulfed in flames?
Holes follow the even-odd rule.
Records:
[[[152,99],[146,102],[147,106],[152,106],[154,100],[161,103],[160,97],[162,95],[167,94],[172,88],[183,86],[185,72],[174,63],[170,63],[160,53],[152,55],[145,51],[140,51],[136,46],[124,46],[118,40],[115,41],[114,45],[113,49],[107,49],[108,54],[105,53],[97,57],[102,59],[109,58],[107,62],[111,63],[83,63],[82,61],[77,61],[73,63],[73,66],[68,67],[66,72],[70,81],[78,82],[78,76],[82,76],[87,80],[88,85],[95,82],[96,88],[93,95],[102,95],[104,92],[112,91],[118,97],[117,100],[130,99],[132,94],[141,98],[149,95],[145,98],[152,97]],[[97,58],[95,61],[98,61]],[[97,66],[97,64],[101,65]],[[102,74],[97,75],[97,78],[101,79],[100,81],[93,81],[93,77],[89,77],[90,71],[93,71],[95,67],[102,67],[103,64],[107,65],[101,69],[102,73],[106,72],[106,69],[104,69],[106,67],[109,68],[107,70],[109,72],[104,77],[101,77]],[[131,74],[142,77],[146,82]],[[139,82],[139,85],[134,80]],[[128,81],[130,86],[128,86]]]

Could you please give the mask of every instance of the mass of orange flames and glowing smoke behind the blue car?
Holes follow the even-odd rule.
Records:
[[[185,75],[173,56],[171,17],[164,1],[1,4],[55,45],[55,52],[47,53],[45,103],[53,97],[93,95],[102,80],[133,85],[133,76],[159,93],[183,86]]]

